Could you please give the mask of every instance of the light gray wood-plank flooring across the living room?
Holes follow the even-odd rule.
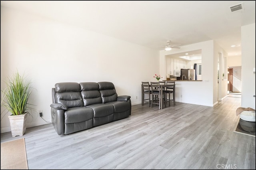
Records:
[[[241,98],[214,107],[176,102],[162,110],[145,103],[132,115],[58,135],[52,124],[23,136],[29,169],[255,169],[255,137],[234,132]],[[48,113],[50,114],[50,113]]]

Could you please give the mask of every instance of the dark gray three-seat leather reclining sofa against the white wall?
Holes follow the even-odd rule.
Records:
[[[52,88],[52,125],[60,134],[70,134],[131,115],[130,96],[118,96],[114,84],[63,82]]]

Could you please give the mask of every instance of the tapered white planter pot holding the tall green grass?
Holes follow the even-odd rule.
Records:
[[[8,116],[10,120],[12,137],[23,136],[23,134],[26,132],[27,116],[28,116],[28,113],[25,113],[24,115]]]

